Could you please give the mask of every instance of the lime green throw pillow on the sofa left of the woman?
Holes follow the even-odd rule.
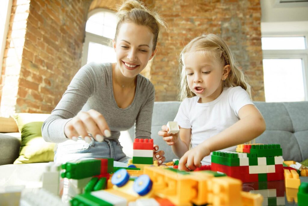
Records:
[[[13,115],[19,132],[21,145],[19,157],[14,164],[51,162],[54,159],[55,143],[42,138],[43,122],[50,114],[16,113]]]

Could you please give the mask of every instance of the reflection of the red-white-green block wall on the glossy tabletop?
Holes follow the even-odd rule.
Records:
[[[285,186],[283,181],[243,183],[243,188],[263,196],[263,206],[285,205]],[[253,190],[252,190],[253,189]]]

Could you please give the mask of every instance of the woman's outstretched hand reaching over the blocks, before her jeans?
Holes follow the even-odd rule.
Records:
[[[86,142],[91,142],[89,134],[92,134],[98,142],[103,142],[105,137],[110,137],[110,129],[103,115],[94,109],[87,112],[79,112],[64,126],[64,134],[67,138],[77,141],[81,136]]]

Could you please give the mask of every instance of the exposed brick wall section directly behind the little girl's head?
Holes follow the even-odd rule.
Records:
[[[177,99],[177,57],[190,39],[204,32],[227,42],[250,79],[253,100],[265,100],[259,0],[156,0],[154,8],[169,25],[169,32],[160,33],[151,76],[156,101]]]

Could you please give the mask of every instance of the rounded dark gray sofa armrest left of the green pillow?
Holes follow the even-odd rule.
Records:
[[[12,164],[18,158],[20,139],[0,133],[0,165]]]

